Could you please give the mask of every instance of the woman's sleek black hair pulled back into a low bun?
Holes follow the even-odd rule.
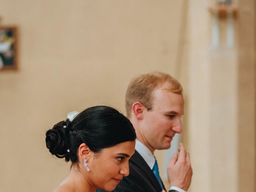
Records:
[[[82,143],[98,153],[103,148],[135,139],[128,118],[112,107],[94,106],[79,113],[72,122],[66,119],[55,124],[46,132],[45,142],[51,154],[75,163]]]

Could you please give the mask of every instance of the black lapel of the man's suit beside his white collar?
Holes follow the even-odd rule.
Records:
[[[162,191],[161,186],[156,179],[156,176],[154,175],[146,161],[136,150],[134,152],[134,155],[130,158],[130,161],[136,164],[136,166],[138,166],[145,173],[145,175],[148,177],[148,179],[154,185],[157,191]]]

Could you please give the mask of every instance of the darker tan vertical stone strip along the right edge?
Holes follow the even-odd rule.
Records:
[[[256,2],[239,1],[238,191],[256,191]]]

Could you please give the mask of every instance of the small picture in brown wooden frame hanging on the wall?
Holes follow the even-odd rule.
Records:
[[[17,27],[0,26],[0,70],[17,69]]]

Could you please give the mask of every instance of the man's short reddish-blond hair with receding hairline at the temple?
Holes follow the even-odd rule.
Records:
[[[125,96],[127,116],[130,117],[132,104],[135,102],[140,102],[147,108],[147,110],[151,110],[153,101],[152,92],[154,89],[162,86],[164,83],[168,83],[168,91],[182,94],[182,86],[180,82],[166,73],[152,72],[142,74],[132,79],[127,88]]]

